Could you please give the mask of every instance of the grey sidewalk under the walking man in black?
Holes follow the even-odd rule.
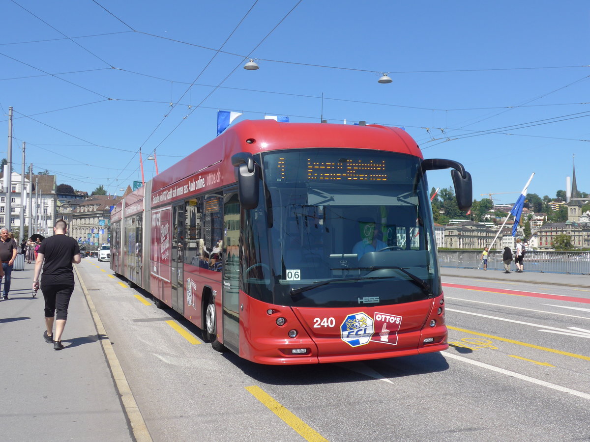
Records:
[[[2,440],[133,440],[80,283],[55,351],[43,339],[42,293],[31,296],[33,272],[34,263],[13,271],[10,299],[0,301]]]

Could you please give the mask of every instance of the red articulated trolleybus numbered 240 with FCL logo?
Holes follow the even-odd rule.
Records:
[[[448,348],[425,171],[402,129],[242,121],[112,212],[111,268],[260,364]]]

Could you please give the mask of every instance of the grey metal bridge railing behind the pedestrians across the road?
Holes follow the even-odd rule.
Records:
[[[504,270],[503,250],[492,250],[488,254],[487,268]],[[438,250],[438,263],[441,267],[463,269],[483,268],[481,250]],[[545,252],[527,250],[523,259],[526,272],[572,273],[590,275],[590,252]],[[510,270],[515,271],[514,261]]]

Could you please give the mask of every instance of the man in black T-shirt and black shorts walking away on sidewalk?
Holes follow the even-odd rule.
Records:
[[[45,298],[45,326],[43,337],[48,343],[53,342],[55,350],[61,350],[61,334],[64,331],[68,317],[68,305],[74,292],[74,268],[72,263],[80,263],[80,248],[78,242],[66,236],[68,225],[63,219],[55,222],[55,235],[45,238],[41,242],[35,261],[35,276],[33,290],[41,287]],[[43,279],[39,285],[39,275],[43,269]],[[55,334],[53,322],[55,315]]]

